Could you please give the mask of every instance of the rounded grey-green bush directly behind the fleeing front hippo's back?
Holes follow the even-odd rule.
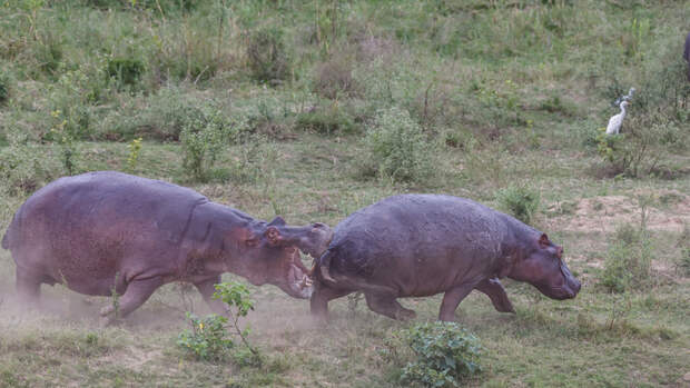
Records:
[[[361,171],[365,176],[422,182],[434,175],[431,143],[406,110],[379,111],[367,129],[364,149]]]

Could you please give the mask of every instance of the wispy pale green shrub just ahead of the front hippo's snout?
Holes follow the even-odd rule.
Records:
[[[647,230],[629,223],[617,228],[604,261],[601,283],[612,292],[639,289],[649,282],[652,243]]]

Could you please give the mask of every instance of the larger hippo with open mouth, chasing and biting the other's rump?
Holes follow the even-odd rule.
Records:
[[[117,292],[117,312],[125,317],[171,281],[195,285],[211,309],[224,312],[211,299],[223,272],[307,299],[312,286],[298,250],[319,257],[332,237],[324,223],[256,220],[188,188],[99,171],[60,178],[33,193],[2,247],[12,252],[22,299],[37,300],[41,283],[90,296]],[[102,324],[115,312],[115,306],[103,308]]]

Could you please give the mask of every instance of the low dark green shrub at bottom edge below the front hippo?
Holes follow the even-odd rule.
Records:
[[[416,360],[403,368],[403,379],[425,387],[457,387],[482,370],[479,339],[455,322],[415,325],[406,332]]]

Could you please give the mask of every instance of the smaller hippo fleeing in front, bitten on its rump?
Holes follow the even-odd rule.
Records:
[[[364,292],[375,312],[415,317],[397,298],[445,292],[438,319],[451,321],[472,291],[489,296],[501,312],[514,312],[500,279],[526,281],[553,299],[580,290],[549,237],[470,199],[401,195],[359,209],[335,228],[315,262],[312,314],[327,319],[328,301]]]

